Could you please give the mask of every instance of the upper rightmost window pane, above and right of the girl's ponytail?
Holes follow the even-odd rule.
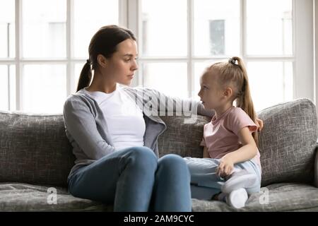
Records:
[[[293,54],[292,0],[247,0],[247,54]]]

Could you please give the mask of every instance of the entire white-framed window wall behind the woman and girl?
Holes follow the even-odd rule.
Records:
[[[2,0],[0,109],[61,112],[90,38],[107,24],[136,33],[133,86],[198,100],[206,66],[238,55],[257,110],[314,100],[312,8],[312,0]]]

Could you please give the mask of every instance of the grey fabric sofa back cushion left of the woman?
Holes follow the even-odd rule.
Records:
[[[0,112],[0,182],[66,186],[74,160],[61,114]]]

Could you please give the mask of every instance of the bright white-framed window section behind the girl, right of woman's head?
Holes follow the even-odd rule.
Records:
[[[198,100],[199,77],[206,66],[240,56],[257,111],[298,97],[314,100],[313,64],[302,61],[312,54],[313,45],[304,49],[299,39],[312,34],[312,22],[306,25],[312,20],[312,1],[136,2],[139,26],[131,23],[131,28],[142,35],[137,35],[140,67],[135,85]],[[302,34],[300,26],[305,27]],[[302,73],[300,61],[310,73]]]

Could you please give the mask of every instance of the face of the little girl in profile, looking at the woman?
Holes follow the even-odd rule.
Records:
[[[223,105],[223,90],[216,81],[216,73],[214,69],[210,69],[200,78],[201,88],[198,95],[206,109],[217,109]]]

